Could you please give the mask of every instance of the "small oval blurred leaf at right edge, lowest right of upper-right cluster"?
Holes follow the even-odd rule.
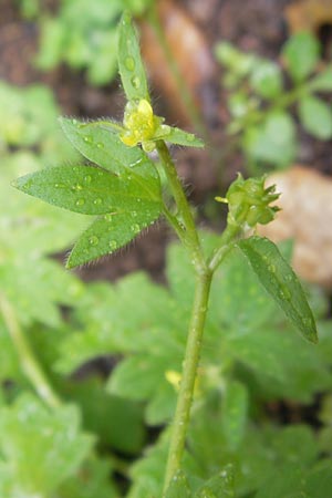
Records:
[[[321,141],[332,136],[331,104],[315,96],[305,96],[299,102],[299,116],[303,128]]]

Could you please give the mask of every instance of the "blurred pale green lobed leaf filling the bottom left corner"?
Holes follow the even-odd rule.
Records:
[[[75,407],[51,413],[35,397],[20,396],[0,411],[1,496],[49,496],[79,470],[92,445]]]

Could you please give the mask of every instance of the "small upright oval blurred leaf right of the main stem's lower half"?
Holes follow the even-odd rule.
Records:
[[[248,392],[238,381],[229,381],[222,400],[221,425],[230,448],[241,442],[247,423]]]

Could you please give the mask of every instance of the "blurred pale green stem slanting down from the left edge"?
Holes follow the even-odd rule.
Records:
[[[53,408],[58,407],[61,402],[51,387],[46,375],[34,357],[30,344],[15,317],[13,308],[2,293],[0,293],[0,311],[2,313],[4,324],[8,329],[12,343],[17,350],[24,374],[27,375],[40,397],[49,406]]]

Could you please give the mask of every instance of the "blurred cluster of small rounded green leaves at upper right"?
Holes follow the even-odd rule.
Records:
[[[241,52],[228,42],[217,45],[228,92],[228,133],[249,169],[257,172],[264,165],[284,168],[297,158],[298,120],[313,137],[332,137],[331,105],[320,95],[332,91],[332,65],[321,61],[319,41],[307,32],[286,42],[280,53],[282,65]]]

